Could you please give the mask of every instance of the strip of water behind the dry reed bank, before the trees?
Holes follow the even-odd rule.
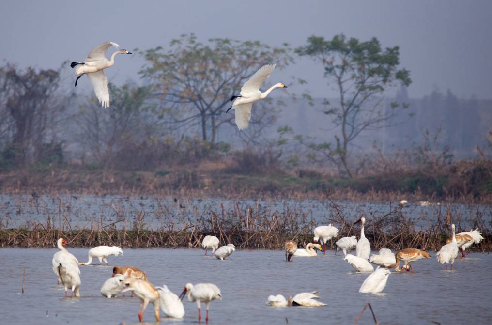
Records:
[[[61,201],[59,200],[61,199]],[[347,220],[360,216],[383,216],[398,207],[397,202],[336,202]],[[246,215],[248,207],[265,213],[289,214],[293,211],[303,213],[307,222],[314,220],[318,224],[332,222],[330,215],[335,213],[331,202],[316,200],[231,200],[226,198],[186,198],[177,202],[173,197],[155,196],[122,196],[122,195],[0,195],[0,226],[5,228],[29,227],[36,222],[59,225],[59,212],[62,227],[64,220],[70,227],[91,228],[92,223],[109,225],[117,223],[116,227],[128,227],[135,221],[135,216],[144,213],[143,222],[148,227],[162,227],[172,221],[177,227],[185,223],[197,224],[201,218],[209,218],[210,211],[220,215],[221,204],[225,211],[232,213],[239,207]],[[408,202],[401,212],[415,225],[429,227],[438,216],[446,216],[447,211],[453,216],[453,222],[458,229],[479,227],[477,219],[487,222],[492,220],[489,208],[481,204],[443,204],[440,206],[420,206],[418,202]],[[464,230],[463,230],[464,231]]]

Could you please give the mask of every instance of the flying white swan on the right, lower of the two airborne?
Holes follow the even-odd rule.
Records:
[[[260,92],[261,84],[270,76],[274,71],[275,65],[263,65],[258,71],[256,71],[251,78],[243,85],[241,88],[241,93],[239,96],[231,97],[231,101],[234,100],[233,104],[226,113],[232,108],[236,111],[236,125],[239,130],[244,130],[249,124],[251,119],[251,107],[253,102],[264,99],[270,94],[275,88],[287,88],[281,82],[273,85],[266,92]]]

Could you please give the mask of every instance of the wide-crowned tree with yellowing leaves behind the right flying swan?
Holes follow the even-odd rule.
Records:
[[[154,96],[162,103],[160,115],[168,120],[168,127],[198,127],[202,140],[212,144],[222,125],[234,125],[234,114],[224,113],[243,83],[263,65],[276,63],[282,68],[293,63],[288,44],[270,47],[227,38],[202,43],[194,34],[172,40],[166,50],[159,46],[141,53],[147,61],[141,74],[154,86]],[[271,125],[274,112],[273,107],[255,106],[246,132],[257,134]]]

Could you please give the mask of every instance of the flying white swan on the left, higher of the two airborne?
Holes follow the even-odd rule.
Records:
[[[87,74],[89,80],[94,87],[94,93],[102,107],[109,107],[109,91],[108,91],[108,81],[106,75],[102,71],[105,68],[113,66],[115,64],[115,56],[117,54],[131,54],[127,50],[119,50],[111,54],[111,58],[106,59],[106,51],[111,46],[116,49],[120,48],[120,45],[115,42],[104,42],[95,49],[93,49],[86,58],[85,62],[72,62],[70,66],[75,69],[75,86],[77,86],[77,81],[83,74]]]

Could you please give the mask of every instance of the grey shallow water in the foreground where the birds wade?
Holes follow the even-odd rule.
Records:
[[[69,249],[80,261],[87,249]],[[51,259],[57,249],[0,249],[1,324],[137,324],[139,299],[105,298],[99,293],[112,268],[81,266],[81,298],[64,298],[56,285]],[[187,282],[211,282],[222,300],[210,304],[209,324],[353,324],[370,302],[380,324],[492,324],[492,256],[472,253],[445,271],[431,259],[412,265],[416,273],[393,272],[384,293],[359,293],[368,274],[353,272],[340,255],[298,258],[285,262],[282,251],[238,250],[228,260],[204,257],[198,249],[126,249],[108,258],[111,265],[135,265],[154,285],[166,284],[179,294]],[[26,268],[26,291],[21,294]],[[326,307],[275,308],[268,295],[318,290]],[[185,301],[187,299],[185,298]],[[185,302],[183,320],[160,324],[196,324],[196,304]],[[150,305],[144,320],[154,322]],[[373,324],[369,309],[362,324]]]

